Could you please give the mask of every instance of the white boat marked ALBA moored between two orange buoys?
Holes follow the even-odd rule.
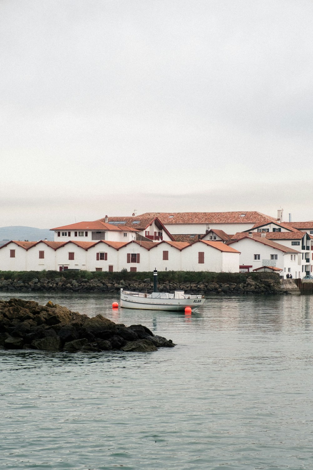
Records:
[[[132,292],[121,289],[121,307],[141,308],[144,310],[168,310],[178,312],[191,307],[196,310],[205,301],[202,295],[185,294],[183,290],[175,290],[174,294],[169,292]]]

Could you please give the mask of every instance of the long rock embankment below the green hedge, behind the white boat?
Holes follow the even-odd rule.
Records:
[[[34,278],[29,282],[20,280],[0,280],[0,291],[2,292],[32,292],[32,291],[61,291],[61,292],[118,292],[121,288],[135,291],[152,291],[153,282],[150,279],[143,281],[127,281],[112,279],[84,278],[66,279],[56,277],[53,280],[46,278]],[[278,276],[266,278],[246,277],[239,282],[160,282],[158,290],[174,292],[184,290],[186,293],[195,294],[285,294]]]

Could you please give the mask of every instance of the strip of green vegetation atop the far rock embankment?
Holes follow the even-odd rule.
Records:
[[[143,281],[144,279],[150,279],[153,282],[153,272],[137,272],[130,273],[126,269],[119,272],[103,272],[103,271],[79,271],[79,270],[68,270],[68,271],[0,271],[0,280],[15,279],[22,282],[30,282],[36,278],[38,280],[46,278],[53,280],[58,277],[64,277],[65,279],[85,279],[91,281],[92,279],[105,279],[121,281]],[[279,275],[275,273],[211,273],[208,271],[196,272],[196,271],[159,271],[158,282],[216,282],[220,283],[235,283],[240,284],[245,282],[247,277],[251,277],[255,281],[261,281],[262,279],[272,279],[277,283],[280,282]]]

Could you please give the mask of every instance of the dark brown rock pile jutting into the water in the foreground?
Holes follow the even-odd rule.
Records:
[[[143,325],[117,324],[102,315],[88,317],[48,302],[12,298],[0,301],[0,347],[46,351],[150,352],[175,346]]]

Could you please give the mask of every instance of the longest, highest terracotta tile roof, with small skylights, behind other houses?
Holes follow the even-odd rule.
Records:
[[[275,222],[276,219],[258,211],[232,212],[145,212],[143,218],[157,217],[162,224],[255,224]]]

